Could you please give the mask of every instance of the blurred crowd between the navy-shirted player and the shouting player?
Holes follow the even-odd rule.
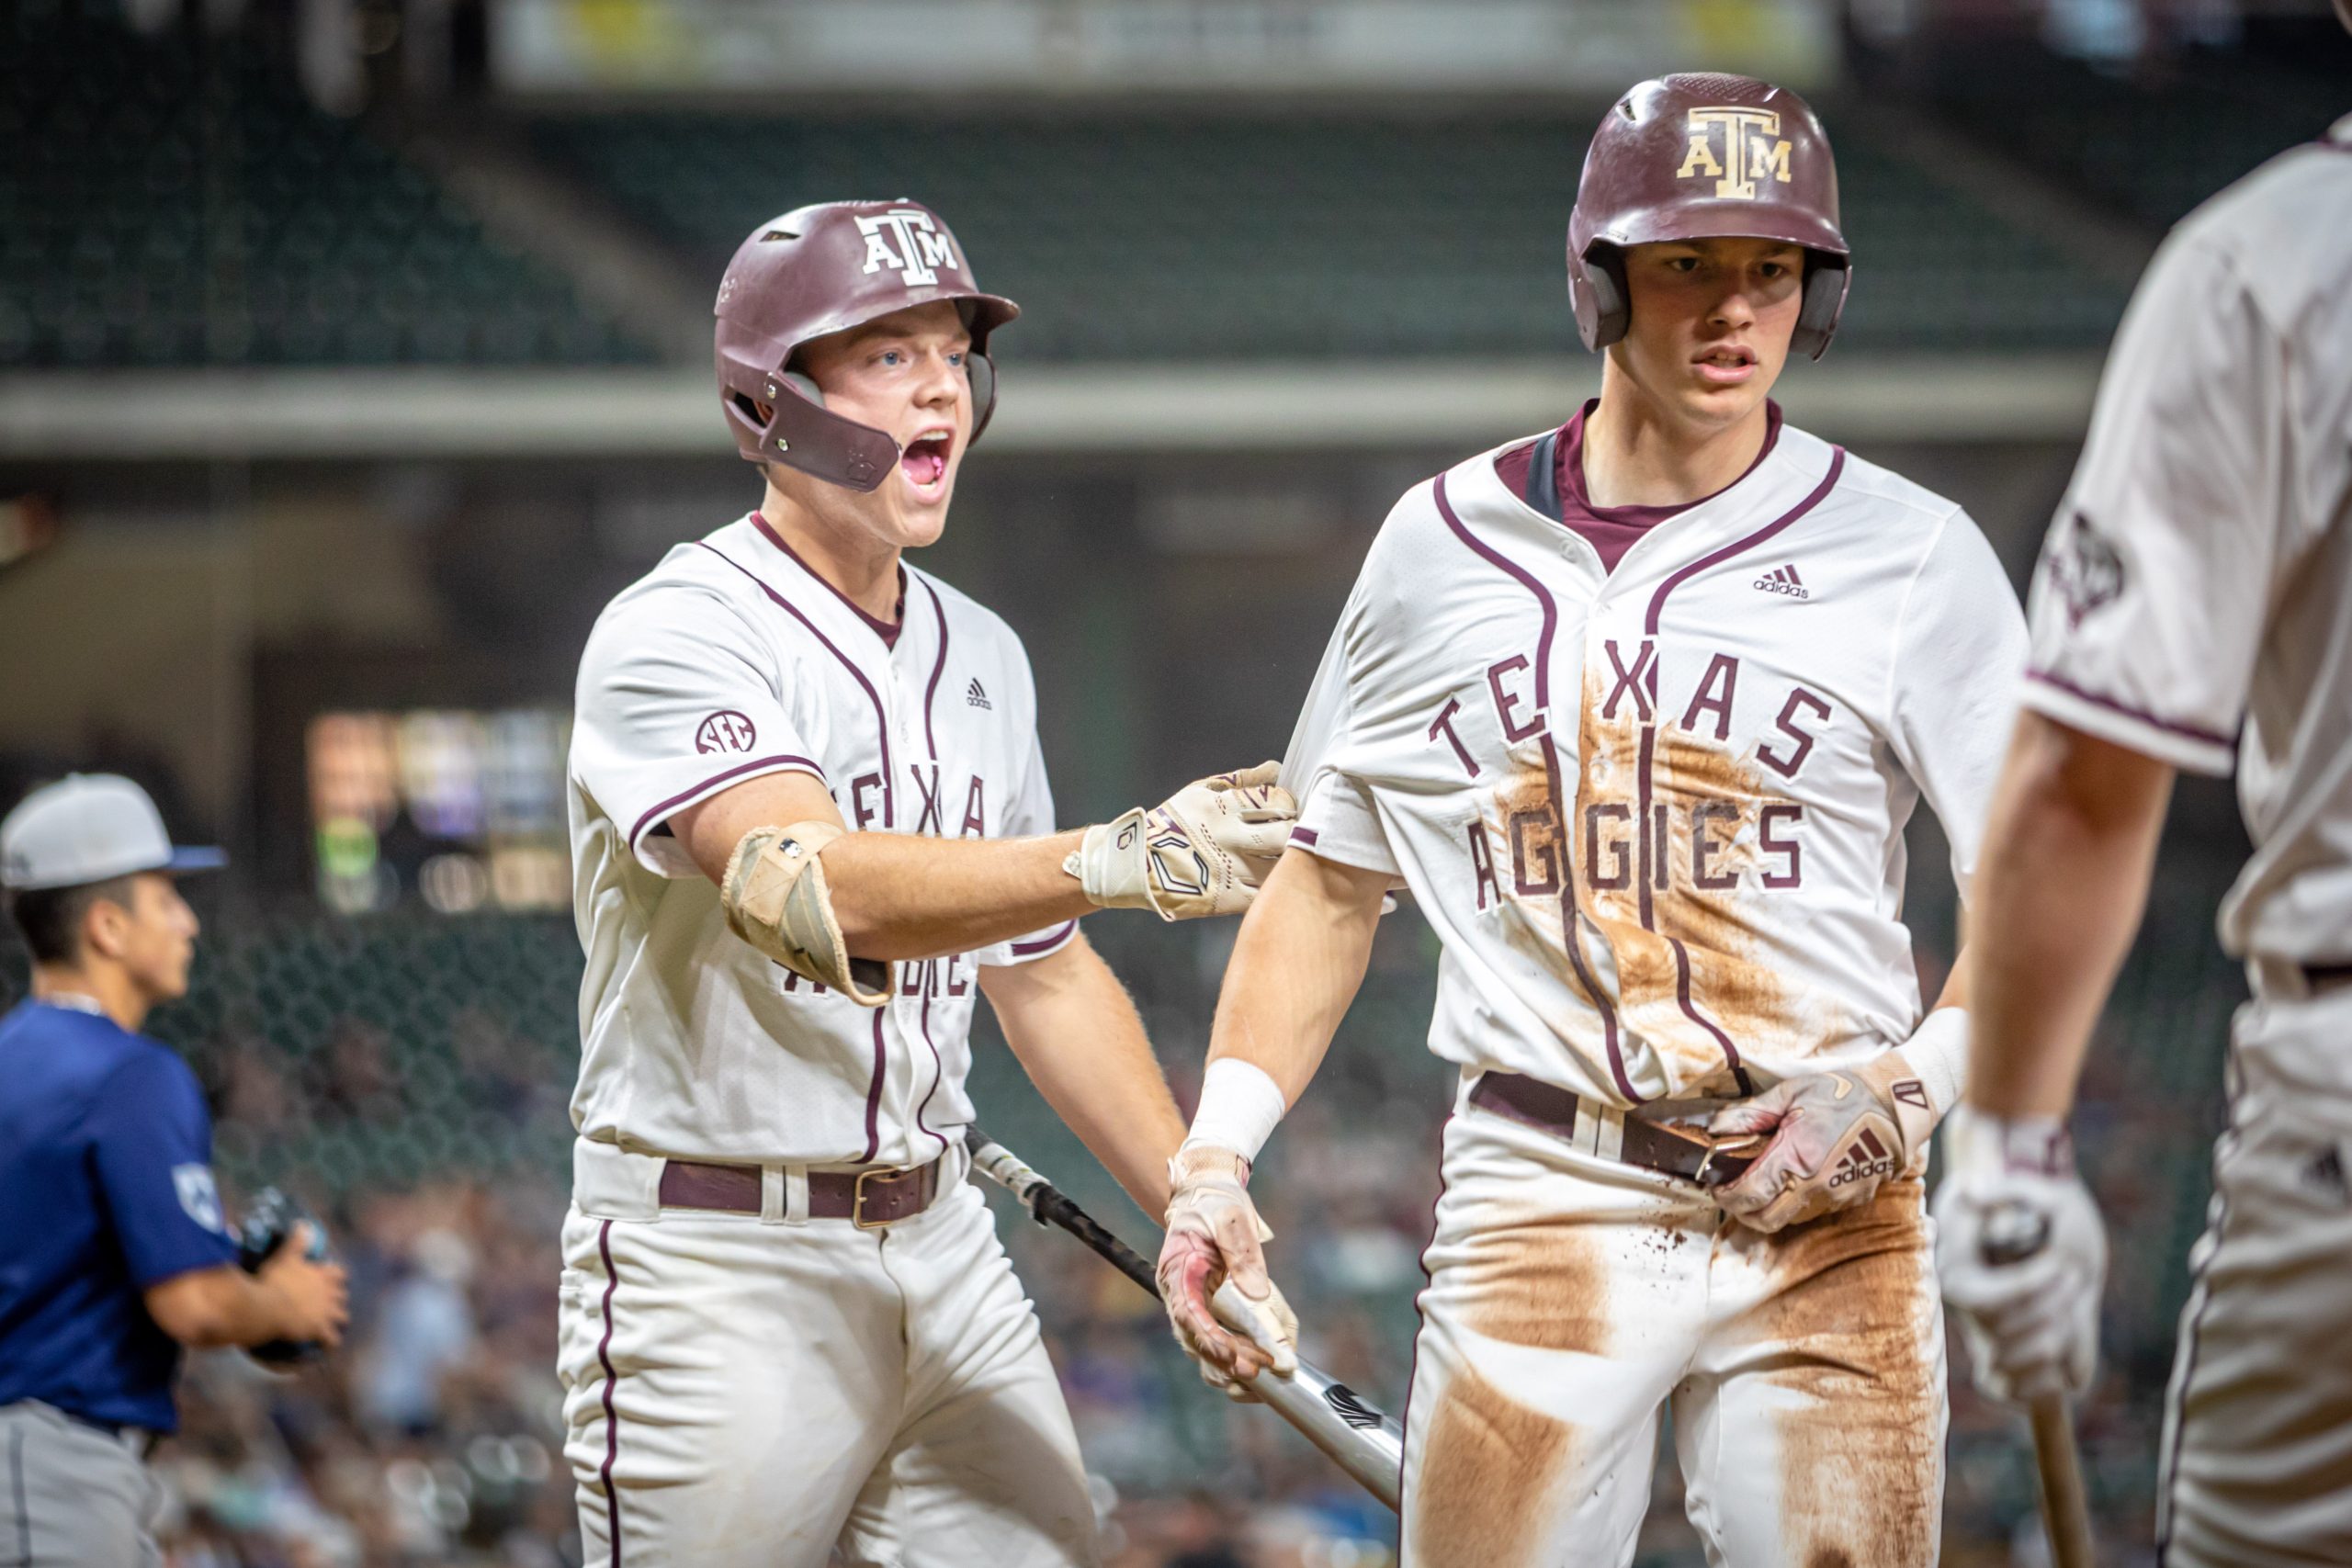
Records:
[[[155,1455],[172,1568],[579,1563],[555,1382],[550,1180],[459,1180],[334,1211],[353,1331],[266,1373],[195,1356]]]

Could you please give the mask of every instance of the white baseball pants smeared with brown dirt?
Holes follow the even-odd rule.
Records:
[[[1762,1237],[1465,1107],[1404,1413],[1404,1568],[1625,1568],[1658,1410],[1712,1568],[1929,1568],[1943,1302],[1922,1182]]]

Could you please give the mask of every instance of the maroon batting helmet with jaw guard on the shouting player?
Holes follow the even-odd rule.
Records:
[[[955,301],[971,331],[971,440],[997,407],[988,334],[1021,306],[981,294],[955,235],[922,202],[821,202],[750,233],[720,280],[715,353],[720,402],[736,449],[753,463],[788,463],[849,489],[875,489],[898,463],[898,442],[826,409],[793,369],[811,339],[877,315]],[[762,409],[769,409],[762,414]]]

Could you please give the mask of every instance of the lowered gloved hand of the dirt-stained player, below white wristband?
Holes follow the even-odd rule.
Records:
[[[1265,1368],[1298,1371],[1298,1319],[1265,1274],[1275,1232],[1249,1201],[1249,1161],[1232,1150],[1195,1143],[1169,1161],[1169,1229],[1160,1244],[1160,1300],[1176,1342],[1200,1363],[1202,1382],[1251,1399],[1242,1378]],[[1244,1333],[1228,1331],[1209,1298],[1223,1293]]]

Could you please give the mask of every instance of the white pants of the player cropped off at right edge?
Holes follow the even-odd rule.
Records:
[[[2347,1044],[2345,994],[2239,1009],[2157,1453],[2161,1568],[2352,1563]]]

